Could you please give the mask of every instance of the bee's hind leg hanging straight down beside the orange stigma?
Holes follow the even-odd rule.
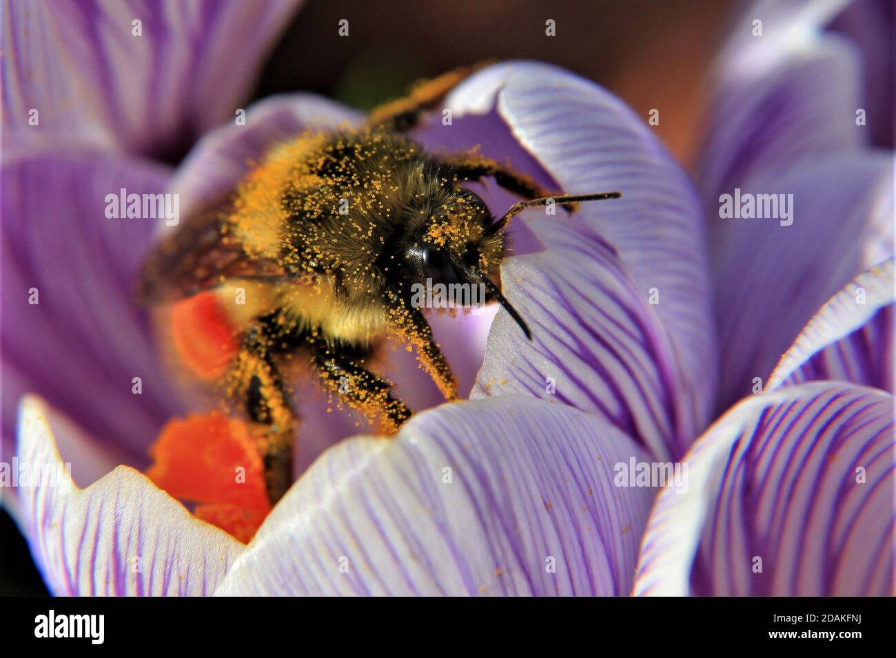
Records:
[[[274,505],[292,484],[297,416],[263,334],[259,326],[250,329],[231,376],[237,382],[233,392],[245,400],[253,434],[260,438],[264,483]]]

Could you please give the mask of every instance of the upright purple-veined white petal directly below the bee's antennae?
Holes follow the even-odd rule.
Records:
[[[560,239],[565,238],[566,244]],[[543,397],[597,414],[657,457],[684,453],[694,410],[676,394],[668,337],[597,235],[558,222],[547,252],[504,265],[507,296],[530,342],[499,313],[472,397]]]

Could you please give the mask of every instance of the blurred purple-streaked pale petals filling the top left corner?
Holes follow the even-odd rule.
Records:
[[[4,3],[5,153],[80,141],[177,157],[234,116],[299,4]]]

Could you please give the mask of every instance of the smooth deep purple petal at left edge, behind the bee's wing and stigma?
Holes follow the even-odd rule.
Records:
[[[20,397],[33,392],[125,463],[145,466],[162,424],[184,407],[132,295],[155,221],[106,218],[105,198],[121,188],[164,192],[168,170],[69,155],[6,161],[3,176],[4,441]]]

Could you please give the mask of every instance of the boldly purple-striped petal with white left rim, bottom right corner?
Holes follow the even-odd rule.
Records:
[[[893,397],[811,382],[748,398],[650,513],[634,594],[893,592]]]

